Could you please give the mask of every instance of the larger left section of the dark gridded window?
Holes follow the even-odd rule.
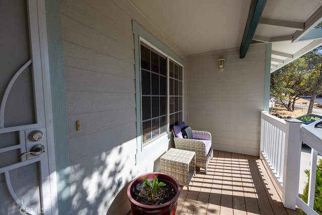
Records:
[[[143,146],[167,132],[167,57],[141,44]]]

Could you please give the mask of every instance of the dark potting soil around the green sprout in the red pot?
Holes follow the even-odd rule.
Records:
[[[135,190],[133,198],[135,199],[135,201],[146,205],[164,204],[170,201],[171,199],[173,199],[177,194],[176,190],[172,186],[166,185],[166,186],[160,187],[156,191],[155,199],[154,201],[152,201],[151,198],[145,197],[144,188],[145,188],[144,186],[141,186],[137,190]]]

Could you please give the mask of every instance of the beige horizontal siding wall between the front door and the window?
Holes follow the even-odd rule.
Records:
[[[158,168],[153,155],[135,164],[132,19],[186,56],[126,0],[62,0],[60,9],[73,214],[125,214],[126,183]]]

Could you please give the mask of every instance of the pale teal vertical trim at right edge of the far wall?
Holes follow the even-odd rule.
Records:
[[[270,84],[271,84],[271,58],[272,43],[266,43],[266,59],[265,59],[265,81],[264,81],[264,110],[269,111],[270,100]]]

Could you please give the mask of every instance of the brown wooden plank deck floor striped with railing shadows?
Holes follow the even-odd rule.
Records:
[[[176,214],[301,214],[284,208],[258,157],[214,151],[208,173],[183,187]]]

